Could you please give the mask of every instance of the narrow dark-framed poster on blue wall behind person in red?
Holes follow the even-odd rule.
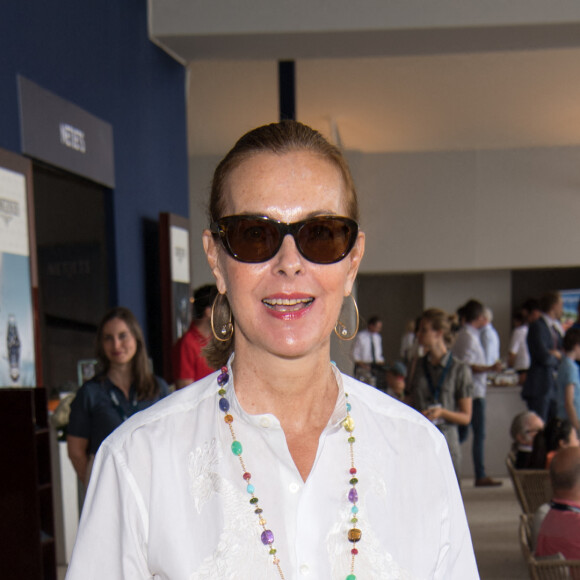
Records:
[[[173,381],[171,348],[191,322],[189,240],[187,218],[159,214],[163,375],[168,382]]]

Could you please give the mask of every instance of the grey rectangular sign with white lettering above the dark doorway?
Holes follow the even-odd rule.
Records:
[[[22,152],[115,187],[112,126],[22,76],[18,85]]]

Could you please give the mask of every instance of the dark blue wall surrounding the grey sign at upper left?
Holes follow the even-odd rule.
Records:
[[[113,126],[116,302],[147,333],[146,245],[160,211],[189,214],[185,69],[148,39],[146,0],[4,2],[0,147],[21,153],[18,74]]]

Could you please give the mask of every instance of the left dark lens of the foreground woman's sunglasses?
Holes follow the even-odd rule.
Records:
[[[226,232],[230,250],[242,262],[265,262],[278,250],[280,234],[276,226],[266,220],[232,220]]]

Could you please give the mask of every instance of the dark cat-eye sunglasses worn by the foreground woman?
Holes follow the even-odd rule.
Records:
[[[231,215],[210,226],[226,251],[239,262],[267,262],[290,234],[298,251],[315,264],[340,262],[352,250],[358,224],[347,217],[324,215],[285,224],[265,216]]]

